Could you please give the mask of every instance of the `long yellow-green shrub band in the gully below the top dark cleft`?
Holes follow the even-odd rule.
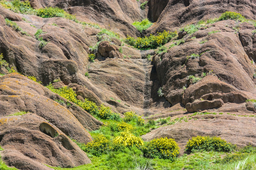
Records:
[[[177,36],[177,32],[164,31],[162,33],[157,33],[157,35],[145,36],[144,38],[138,37],[137,39],[127,36],[125,42],[131,46],[134,46],[140,50],[156,49],[162,45],[165,45],[171,39]]]

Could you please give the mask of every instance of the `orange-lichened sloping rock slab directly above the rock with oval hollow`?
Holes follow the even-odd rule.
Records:
[[[68,102],[18,73],[0,77],[0,117],[27,111],[48,120],[73,139],[90,142],[86,129],[96,130],[102,123],[73,103],[66,108],[54,100]]]

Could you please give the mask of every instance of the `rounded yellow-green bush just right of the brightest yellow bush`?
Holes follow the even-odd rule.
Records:
[[[147,158],[160,158],[174,161],[180,153],[179,149],[180,148],[174,139],[161,137],[153,139],[143,146],[142,152]]]

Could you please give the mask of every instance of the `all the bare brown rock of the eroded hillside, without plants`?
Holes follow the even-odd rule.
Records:
[[[200,19],[219,17],[228,10],[256,19],[255,0],[150,0],[146,10],[140,9],[137,0],[30,2],[35,8],[64,8],[77,19],[99,24],[121,37],[140,36],[131,24],[146,16],[155,24],[143,34],[175,30]],[[17,23],[29,36],[7,26],[5,18]],[[40,37],[48,42],[42,48],[35,36],[38,29],[43,31]],[[69,86],[78,99],[87,98],[98,106],[104,103],[119,113],[134,110],[148,119],[191,116],[188,122],[160,127],[143,136],[145,140],[171,137],[181,147],[198,135],[221,136],[240,146],[256,144],[256,134],[250,131],[256,119],[245,117],[256,113],[254,104],[246,102],[256,99],[253,30],[255,26],[234,20],[205,24],[192,34],[180,32],[177,40],[165,44],[166,52],[157,53],[132,48],[116,36],[110,38],[102,33],[99,27],[60,17],[18,14],[0,6],[0,53],[17,72],[35,76],[43,85]],[[102,37],[108,41],[101,42]],[[176,45],[178,41],[182,43]],[[96,43],[95,62],[89,62],[90,46]],[[192,54],[195,57],[190,57]],[[153,61],[148,61],[146,55],[152,55]],[[4,68],[0,71],[8,73]],[[86,72],[89,76],[85,76]],[[193,77],[201,80],[193,82]],[[56,79],[60,82],[54,83]],[[55,102],[69,101],[43,85],[18,73],[0,77],[3,161],[31,170],[50,169],[44,164],[74,167],[90,162],[67,136],[88,143],[92,139],[87,130],[96,130],[102,123],[72,102],[70,107]],[[157,94],[160,87],[161,97]],[[18,111],[28,113],[8,117]],[[192,116],[196,111],[224,114]],[[40,143],[34,143],[35,138]]]

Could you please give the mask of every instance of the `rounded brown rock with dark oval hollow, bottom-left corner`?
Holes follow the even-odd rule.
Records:
[[[60,129],[32,113],[0,118],[0,145],[4,149],[1,159],[21,170],[52,170],[44,164],[71,168],[91,162]]]

